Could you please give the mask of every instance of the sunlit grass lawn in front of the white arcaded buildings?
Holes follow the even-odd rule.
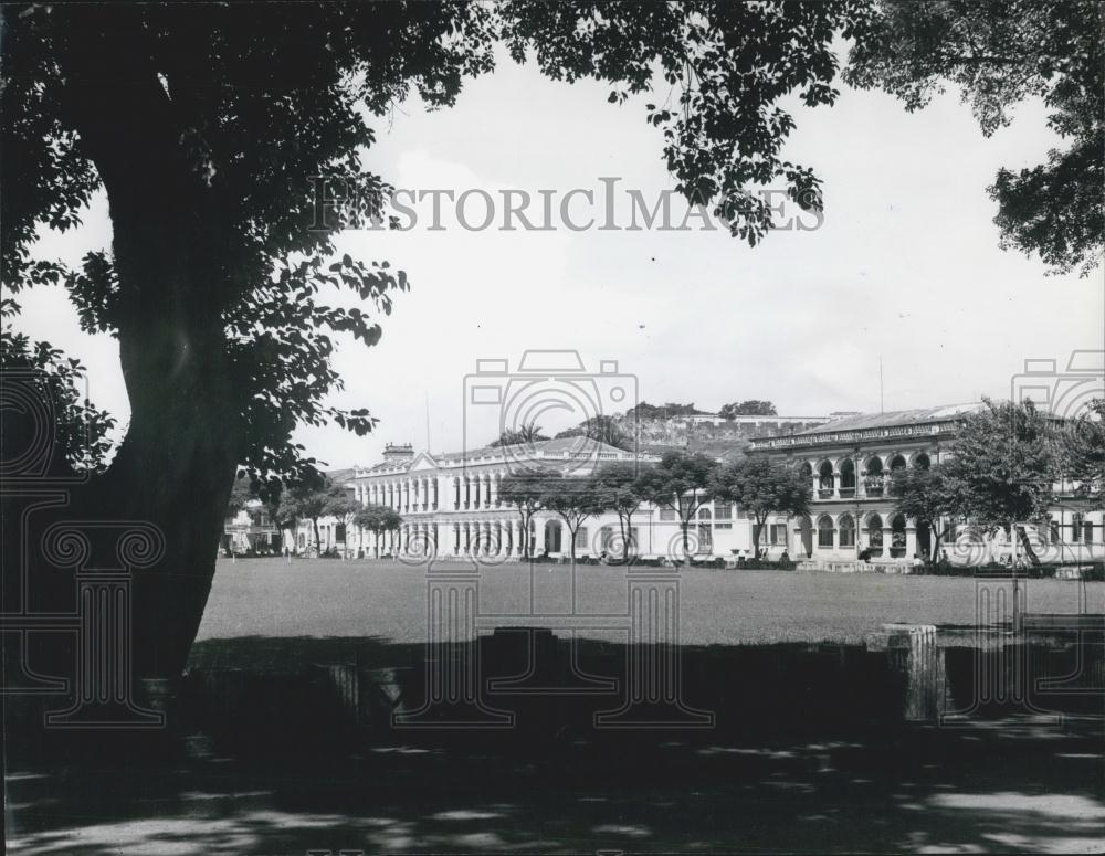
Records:
[[[460,566],[457,566],[460,567]],[[1077,612],[1081,583],[1030,580],[1035,612]],[[507,564],[484,569],[480,613],[495,623],[540,625],[541,614],[569,614],[570,570]],[[972,624],[969,578],[685,570],[681,638],[686,644],[861,642],[886,622]],[[1087,583],[1087,610],[1105,611],[1105,583]],[[533,594],[533,609],[530,595]],[[199,638],[234,636],[380,636],[425,638],[423,568],[392,561],[221,559]],[[625,573],[580,567],[576,614],[623,615]],[[617,623],[617,622],[614,622]],[[619,631],[588,631],[623,640]]]

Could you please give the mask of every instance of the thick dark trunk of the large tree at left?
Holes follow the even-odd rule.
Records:
[[[75,39],[61,62],[66,109],[110,207],[120,290],[110,320],[130,422],[107,473],[74,499],[85,514],[164,533],[164,558],[135,579],[135,668],[176,676],[207,604],[242,453],[222,318],[240,287],[234,230],[156,70],[101,44],[95,33]]]

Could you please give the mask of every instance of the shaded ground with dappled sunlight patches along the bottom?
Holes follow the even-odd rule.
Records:
[[[1099,853],[1099,739],[1004,723],[761,747],[514,757],[392,747],[341,764],[9,779],[9,853]]]

